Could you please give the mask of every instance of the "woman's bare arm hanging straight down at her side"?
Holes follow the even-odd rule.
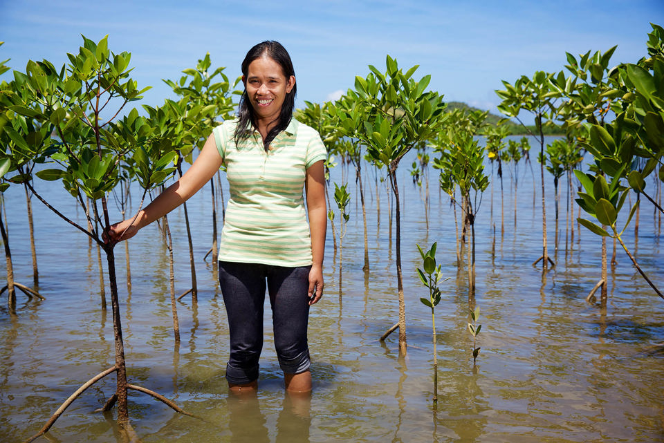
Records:
[[[325,172],[323,160],[306,169],[306,210],[311,232],[311,254],[313,263],[309,272],[309,304],[313,305],[323,294],[323,258],[327,229],[327,208],[325,206]]]

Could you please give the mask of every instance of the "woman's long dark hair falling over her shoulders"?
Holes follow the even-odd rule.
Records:
[[[282,46],[278,41],[262,41],[253,48],[249,50],[244,61],[242,62],[242,75],[246,77],[248,75],[249,65],[255,59],[261,57],[270,57],[273,59],[279,66],[282,67],[284,75],[286,76],[286,81],[291,78],[291,75],[295,76],[295,70],[293,69],[293,62],[291,62],[291,56],[288,55],[286,48]],[[297,84],[293,85],[290,93],[286,93],[284,99],[284,104],[282,104],[282,110],[279,113],[279,118],[277,119],[277,124],[270,129],[268,132],[264,148],[267,151],[270,146],[270,142],[275,139],[277,134],[280,131],[284,131],[288,127],[288,124],[291,122],[293,117],[293,109],[295,108],[295,93],[297,92]],[[245,86],[242,97],[240,98],[239,110],[237,111],[238,124],[235,128],[234,141],[237,146],[240,142],[249,138],[252,133],[252,127],[257,128],[258,124],[256,121],[256,111],[251,106],[249,97],[247,95],[247,88]]]

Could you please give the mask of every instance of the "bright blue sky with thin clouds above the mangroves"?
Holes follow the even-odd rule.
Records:
[[[0,61],[25,71],[28,60],[60,67],[82,37],[109,35],[114,53],[131,53],[131,77],[151,86],[140,104],[174,98],[162,79],[210,53],[232,80],[249,48],[280,41],[297,77],[297,107],[335,100],[368,66],[396,58],[430,89],[498,113],[496,89],[537,70],[557,73],[565,53],[605,52],[612,64],[647,55],[649,23],[664,26],[664,0],[0,0]],[[10,79],[11,71],[0,79]]]

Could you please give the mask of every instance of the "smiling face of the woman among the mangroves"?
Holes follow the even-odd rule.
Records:
[[[287,79],[282,66],[270,57],[251,62],[242,81],[258,119],[268,124],[279,118],[286,94],[295,86],[295,76]]]

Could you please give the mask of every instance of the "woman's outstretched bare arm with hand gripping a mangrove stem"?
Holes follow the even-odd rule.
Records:
[[[157,196],[149,205],[138,211],[136,217],[122,220],[111,225],[107,241],[119,242],[127,240],[138,232],[138,229],[149,225],[154,220],[165,216],[170,211],[182,205],[188,198],[196,194],[206,182],[219,171],[223,159],[216,149],[214,134],[210,134],[205,142],[199,157],[185,174]]]

